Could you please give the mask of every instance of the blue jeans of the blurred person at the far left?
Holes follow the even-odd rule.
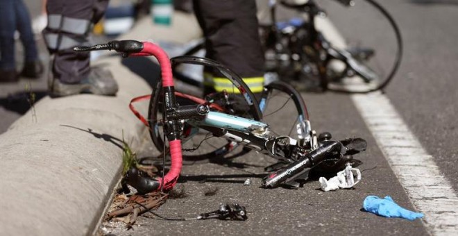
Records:
[[[15,31],[24,45],[26,62],[38,59],[31,18],[22,0],[0,0],[0,69],[15,69]]]

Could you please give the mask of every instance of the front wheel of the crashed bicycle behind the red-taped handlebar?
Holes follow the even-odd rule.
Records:
[[[218,99],[224,99],[224,96],[208,96],[207,100],[205,100],[196,96],[190,96],[176,92],[176,100],[180,105],[210,103],[211,110],[226,112],[232,115],[240,115],[233,114],[234,111],[228,107],[231,104],[226,102],[238,103],[237,105],[246,107],[246,113],[248,114],[248,117],[257,121],[261,120],[262,112],[260,111],[259,104],[257,103],[255,96],[251,90],[249,90],[244,81],[242,81],[242,79],[237,76],[237,74],[233,73],[228,68],[223,67],[223,65],[219,64],[218,62],[214,62],[213,60],[198,58],[194,56],[180,56],[171,58],[171,61],[173,63],[191,63],[196,65],[216,67],[233,84],[234,89],[233,91],[227,92],[228,96],[237,98],[232,99],[232,101],[219,101]],[[237,93],[237,95],[232,93]],[[153,91],[149,104],[149,124],[151,127],[150,135],[151,139],[153,140],[153,144],[155,144],[159,151],[167,151],[167,146],[164,146],[162,107],[162,87],[158,85],[158,88]],[[238,146],[236,142],[231,142],[224,138],[217,137],[215,133],[218,133],[218,131],[219,129],[211,127],[197,128],[190,126],[187,123],[183,123],[183,132],[181,134],[183,159],[198,161],[206,160],[209,158],[217,158],[226,155]]]

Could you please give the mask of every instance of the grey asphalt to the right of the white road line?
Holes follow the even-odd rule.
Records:
[[[393,35],[371,10],[342,11],[336,3],[328,3],[332,22],[345,30],[348,38],[361,37],[362,42],[384,45]],[[356,1],[357,5],[359,1]],[[398,74],[385,91],[402,118],[423,147],[434,156],[441,171],[458,191],[458,149],[456,117],[458,85],[456,67],[458,28],[457,1],[379,1],[391,12],[400,27],[405,53]],[[361,1],[363,6],[364,1]],[[353,23],[353,25],[352,25]],[[358,26],[358,27],[354,27]],[[380,31],[369,31],[380,26]],[[383,55],[390,58],[390,55]],[[392,56],[391,56],[392,58]],[[392,60],[392,59],[391,59]]]

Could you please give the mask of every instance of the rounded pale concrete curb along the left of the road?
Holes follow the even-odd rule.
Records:
[[[142,19],[121,39],[187,42],[199,37],[192,15],[178,13],[173,21],[171,28],[160,28]],[[151,87],[121,65],[120,57],[95,64],[112,71],[117,96],[45,97],[0,135],[0,235],[94,233],[120,178],[121,141],[133,150],[149,142],[128,103],[150,94]],[[136,108],[146,114],[147,106]]]

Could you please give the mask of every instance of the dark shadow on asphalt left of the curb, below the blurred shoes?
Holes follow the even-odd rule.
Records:
[[[40,101],[46,95],[48,95],[47,90],[17,92],[6,97],[0,97],[0,106],[6,110],[24,115],[33,106],[33,103]]]

